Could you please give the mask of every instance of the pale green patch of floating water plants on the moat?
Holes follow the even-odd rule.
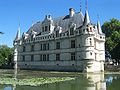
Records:
[[[30,85],[38,86],[42,84],[50,84],[61,81],[74,80],[71,77],[44,77],[44,78],[31,78],[31,79],[14,79],[14,78],[0,78],[0,84],[16,84],[16,85]]]

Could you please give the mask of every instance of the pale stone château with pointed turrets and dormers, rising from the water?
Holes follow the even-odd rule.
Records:
[[[104,71],[105,35],[100,23],[90,22],[88,10],[69,9],[69,15],[46,16],[14,40],[14,59],[21,69]]]

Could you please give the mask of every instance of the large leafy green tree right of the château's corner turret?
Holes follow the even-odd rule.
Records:
[[[112,58],[118,59],[120,57],[120,21],[113,18],[102,25],[102,30],[106,35],[106,51],[110,52]]]

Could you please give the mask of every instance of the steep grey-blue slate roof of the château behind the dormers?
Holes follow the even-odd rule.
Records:
[[[69,24],[74,23],[76,24],[76,28],[83,25],[84,22],[84,16],[82,12],[75,13],[73,17],[70,17],[69,15],[65,15],[59,18],[53,18],[53,24],[54,26],[60,26],[62,27],[63,32],[67,31],[69,29]],[[30,27],[30,29],[27,31],[27,34],[30,34],[31,30],[34,30],[37,33],[40,33],[42,27],[42,22],[37,22],[34,25]]]

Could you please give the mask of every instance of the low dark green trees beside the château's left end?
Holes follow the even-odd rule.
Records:
[[[0,45],[0,65],[11,64],[13,60],[13,48],[7,45]]]

